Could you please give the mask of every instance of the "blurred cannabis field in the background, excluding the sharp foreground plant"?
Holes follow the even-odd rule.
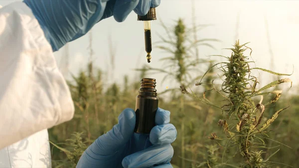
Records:
[[[118,115],[125,108],[135,109],[140,80],[144,77],[154,77],[155,73],[164,73],[165,79],[168,78],[177,85],[176,88],[158,91],[159,107],[171,112],[171,123],[178,132],[177,140],[172,144],[173,167],[239,168],[238,163],[244,162],[244,159],[235,156],[233,151],[226,151],[224,156],[224,149],[208,138],[212,133],[223,134],[223,129],[217,125],[219,119],[223,118],[222,111],[182,94],[180,88],[184,85],[186,88],[191,88],[194,94],[201,95],[202,92],[212,89],[212,80],[220,80],[219,70],[215,67],[202,81],[205,85],[195,86],[203,74],[215,64],[210,57],[198,55],[198,46],[213,48],[213,44],[219,40],[197,39],[194,34],[211,25],[188,27],[182,19],[178,19],[172,26],[163,23],[162,26],[166,33],[160,34],[160,41],[155,42],[154,45],[169,55],[160,60],[164,62],[163,68],[145,64],[143,68],[136,69],[135,77],[128,74],[123,79],[117,80],[122,82],[109,83],[107,79],[113,74],[113,67],[96,68],[90,61],[85,69],[72,75],[73,80],[68,81],[68,84],[75,102],[75,116],[71,121],[49,129],[53,168],[75,168],[87,146],[111,130],[118,122]],[[90,38],[92,39],[92,35]],[[90,57],[93,55],[91,41]],[[113,62],[113,53],[110,57]],[[157,81],[157,83],[162,82]],[[207,92],[205,96],[213,102],[219,103],[223,100],[223,97],[216,92]],[[299,95],[285,92],[280,99],[281,101],[274,106],[267,107],[262,122],[271,118],[277,110],[291,106],[283,111],[268,128],[268,131],[271,131],[268,134],[269,139],[275,141],[265,139],[268,149],[261,155],[263,158],[268,158],[275,152],[271,147],[280,146],[280,151],[270,160],[273,161],[273,165],[268,167],[287,168],[287,165],[290,165],[299,168],[299,115],[297,113]],[[222,165],[228,158],[230,162]]]

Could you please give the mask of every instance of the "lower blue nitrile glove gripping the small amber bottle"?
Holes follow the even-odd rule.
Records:
[[[169,121],[170,112],[158,108],[150,134],[137,134],[135,112],[125,109],[119,124],[87,148],[76,168],[172,168],[170,144],[177,133]]]

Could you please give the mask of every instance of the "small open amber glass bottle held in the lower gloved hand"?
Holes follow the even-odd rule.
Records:
[[[155,79],[143,78],[136,97],[136,126],[135,133],[149,134],[155,126],[155,114],[158,109]]]

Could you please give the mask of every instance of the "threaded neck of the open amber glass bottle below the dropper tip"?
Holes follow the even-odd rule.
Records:
[[[143,78],[141,80],[141,87],[139,89],[139,96],[157,96],[157,90],[155,89],[155,79]]]

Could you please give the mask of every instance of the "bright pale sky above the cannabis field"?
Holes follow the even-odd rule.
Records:
[[[156,8],[158,19],[165,24],[172,24],[173,20],[183,18],[185,23],[191,24],[191,1],[192,0],[162,0]],[[197,24],[215,24],[198,33],[198,38],[218,38],[223,42],[214,43],[217,50],[200,47],[200,56],[211,54],[226,54],[221,48],[229,48],[235,42],[237,13],[240,12],[239,39],[241,43],[251,42],[248,46],[253,49],[252,57],[257,61],[258,67],[269,69],[270,52],[265,28],[266,16],[268,19],[272,50],[274,52],[275,71],[291,73],[293,64],[294,75],[290,78],[294,84],[298,83],[299,77],[299,1],[297,0],[193,0],[195,4]],[[4,6],[13,0],[0,0]],[[108,39],[112,36],[112,42],[116,50],[115,80],[123,81],[124,75],[134,74],[133,68],[138,63],[145,64],[146,53],[144,51],[143,23],[137,21],[136,13],[132,12],[126,21],[118,23],[113,17],[98,23],[93,29],[93,46],[95,64],[102,69],[107,69],[110,64]],[[163,32],[159,21],[152,21],[152,41],[159,40],[156,32]],[[71,42],[70,71],[78,72],[85,68],[88,61],[88,35]],[[55,53],[59,64],[64,55],[64,49]],[[163,68],[159,58],[167,54],[153,48],[151,66]],[[131,77],[133,75],[130,75]],[[159,82],[163,75],[149,76]],[[262,75],[263,82],[269,75]],[[166,86],[179,87],[170,84],[171,81],[158,84],[158,91]]]

